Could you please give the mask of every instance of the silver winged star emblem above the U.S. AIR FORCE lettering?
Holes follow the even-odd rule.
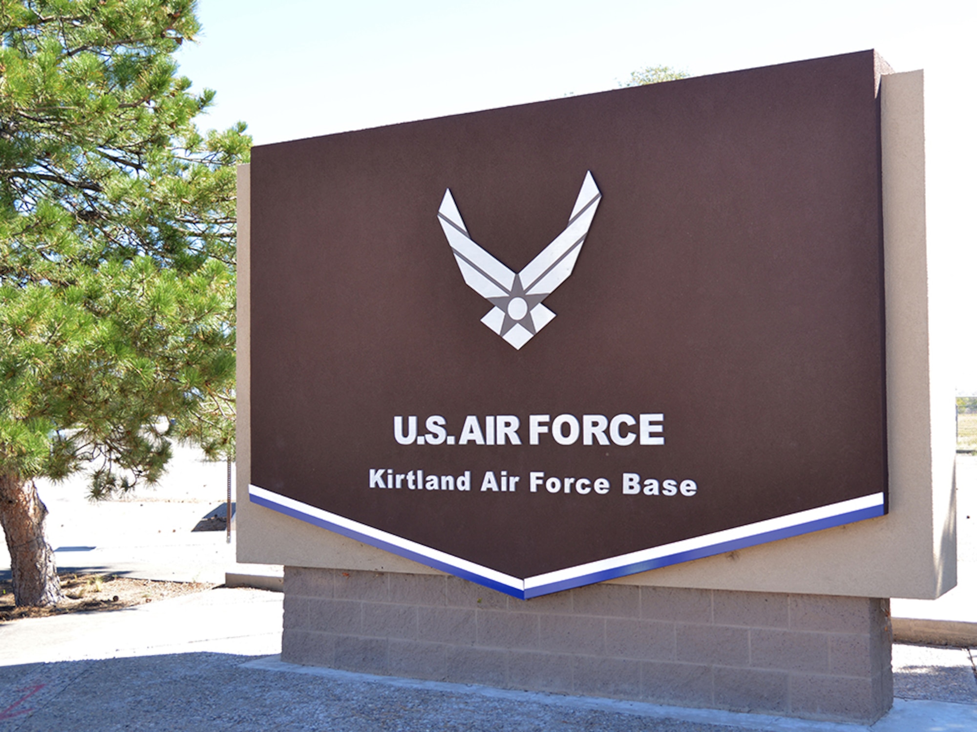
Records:
[[[573,265],[600,201],[601,192],[588,170],[567,228],[517,275],[468,236],[451,190],[446,189],[438,209],[438,220],[445,230],[461,276],[469,287],[492,304],[482,323],[517,351],[546,323],[556,318],[556,314],[543,305],[543,300],[573,274]]]

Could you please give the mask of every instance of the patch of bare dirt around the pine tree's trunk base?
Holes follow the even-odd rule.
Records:
[[[114,575],[60,573],[59,577],[64,600],[57,606],[46,608],[16,607],[12,582],[0,581],[0,623],[17,621],[21,618],[45,618],[64,613],[120,610],[154,600],[165,600],[191,592],[203,592],[216,586],[207,582],[134,580]]]

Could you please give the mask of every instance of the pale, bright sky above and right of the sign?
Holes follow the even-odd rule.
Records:
[[[198,0],[198,18],[177,59],[217,91],[201,126],[242,120],[256,145],[605,91],[649,65],[699,76],[873,48],[921,68],[931,327],[977,394],[972,0]]]

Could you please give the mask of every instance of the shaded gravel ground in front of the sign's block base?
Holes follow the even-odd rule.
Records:
[[[731,727],[242,667],[179,654],[0,668],[3,730],[671,730]],[[34,692],[29,697],[25,695]],[[8,707],[8,705],[10,705]]]

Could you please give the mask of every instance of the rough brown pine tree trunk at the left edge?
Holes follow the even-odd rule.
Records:
[[[19,606],[54,605],[63,597],[55,553],[44,538],[47,515],[33,481],[0,474],[0,526],[7,538],[14,600]]]

